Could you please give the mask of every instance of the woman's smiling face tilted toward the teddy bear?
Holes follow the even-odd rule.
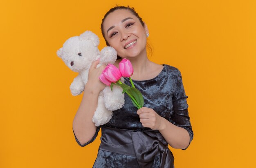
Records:
[[[103,22],[103,31],[108,44],[122,58],[132,58],[146,54],[147,26],[126,9],[110,13]]]

